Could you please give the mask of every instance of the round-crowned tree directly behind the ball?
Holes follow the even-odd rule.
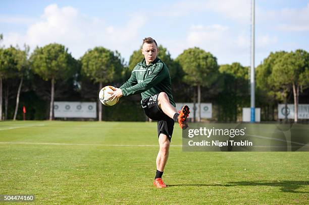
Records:
[[[88,50],[81,57],[81,73],[83,76],[90,78],[94,83],[99,83],[99,89],[102,84],[112,83],[115,80],[121,79],[123,68],[123,60],[120,54],[113,52],[104,47],[95,47]],[[98,120],[102,120],[102,104],[98,100]]]

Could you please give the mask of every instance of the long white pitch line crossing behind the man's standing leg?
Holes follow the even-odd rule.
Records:
[[[99,144],[71,144],[71,143],[17,143],[0,142],[0,144],[21,144],[21,145],[77,145],[77,146],[102,146],[102,147],[159,147],[159,145],[99,145]],[[170,145],[171,147],[182,147],[182,145]]]

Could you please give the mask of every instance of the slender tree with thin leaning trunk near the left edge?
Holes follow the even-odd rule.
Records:
[[[29,63],[27,59],[27,55],[29,53],[29,46],[25,45],[25,50],[17,50],[17,76],[20,77],[20,83],[18,86],[18,91],[17,91],[17,96],[16,96],[16,106],[15,106],[15,112],[14,112],[14,117],[13,120],[16,120],[16,115],[18,111],[18,105],[19,105],[19,96],[20,96],[20,91],[21,87],[23,84],[24,76],[29,69]]]

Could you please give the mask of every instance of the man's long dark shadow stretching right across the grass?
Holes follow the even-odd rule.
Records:
[[[308,191],[296,191],[309,185],[309,181],[232,181],[227,184],[171,184],[168,186],[278,186],[283,192],[309,193]]]

